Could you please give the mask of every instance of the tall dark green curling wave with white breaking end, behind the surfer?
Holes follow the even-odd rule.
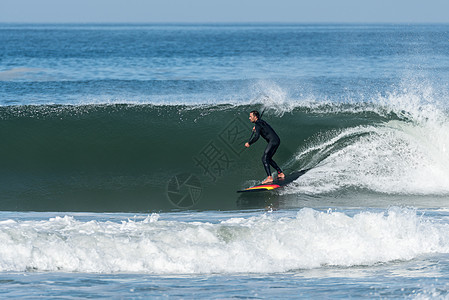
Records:
[[[265,110],[264,119],[281,137],[275,159],[286,172],[312,168],[269,201],[357,193],[445,198],[448,114],[414,99],[391,94],[352,104],[3,106],[2,209],[251,206],[254,199],[235,191],[264,177],[265,142],[243,147],[254,107]]]

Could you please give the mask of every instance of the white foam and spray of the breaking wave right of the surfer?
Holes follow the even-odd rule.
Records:
[[[404,89],[379,96],[374,103],[379,115],[394,113],[403,120],[327,132],[303,146],[292,161],[310,160],[307,157],[315,153],[320,164],[286,193],[361,188],[388,194],[449,194],[449,116],[432,88]]]

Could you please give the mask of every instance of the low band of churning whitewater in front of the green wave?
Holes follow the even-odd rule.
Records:
[[[0,222],[0,271],[275,273],[448,253],[447,224],[415,210],[233,217],[217,223],[54,217]]]

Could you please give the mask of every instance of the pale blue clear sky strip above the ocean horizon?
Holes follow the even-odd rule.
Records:
[[[449,0],[0,0],[0,22],[449,23]]]

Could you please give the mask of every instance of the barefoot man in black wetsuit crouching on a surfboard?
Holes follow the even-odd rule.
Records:
[[[282,172],[281,168],[279,168],[279,166],[273,160],[273,155],[276,153],[276,150],[281,143],[281,139],[267,122],[259,119],[259,116],[260,114],[257,110],[253,110],[249,113],[249,120],[251,121],[251,123],[254,123],[253,131],[255,134],[247,143],[245,143],[245,147],[248,148],[249,146],[257,142],[260,136],[262,136],[267,141],[268,145],[265,148],[262,156],[262,163],[265,168],[265,172],[267,172],[267,178],[262,181],[262,183],[265,184],[273,182],[270,165],[278,172],[278,179],[284,179],[285,175]]]

